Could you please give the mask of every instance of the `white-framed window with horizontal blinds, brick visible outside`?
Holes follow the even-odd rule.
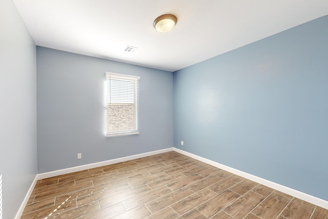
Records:
[[[106,72],[106,136],[139,134],[138,76]]]

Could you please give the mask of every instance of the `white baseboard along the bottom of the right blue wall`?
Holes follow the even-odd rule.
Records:
[[[240,171],[240,170],[225,166],[223,164],[219,164],[217,162],[208,160],[207,158],[203,158],[201,156],[189,153],[187,151],[180,150],[178,148],[173,148],[173,151],[176,151],[178,153],[181,153],[181,154],[187,155],[189,157],[195,158],[198,161],[210,164],[210,165],[212,165],[214,167],[217,167],[217,168],[220,168],[222,170],[226,170],[226,171],[231,172],[233,174],[236,174],[236,175],[239,175],[241,177],[247,178],[248,180],[254,181],[254,182],[259,183],[259,184],[262,184],[264,186],[268,186],[272,189],[275,189],[275,190],[284,192],[286,194],[292,195],[294,197],[297,197],[301,200],[312,203],[312,204],[317,205],[319,207],[328,209],[328,201],[322,200],[321,198],[318,198],[318,197],[315,197],[315,196],[312,196],[312,195],[297,191],[295,189],[292,189],[292,188],[289,188],[289,187],[286,187],[286,186],[282,186],[280,184],[265,180],[264,178],[261,178],[261,177],[258,177],[258,176],[255,176],[255,175],[252,175],[252,174],[249,174],[249,173],[245,173],[243,171]]]

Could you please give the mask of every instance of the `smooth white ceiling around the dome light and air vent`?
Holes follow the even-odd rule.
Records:
[[[37,46],[175,71],[328,14],[327,0],[14,0]],[[171,32],[154,19],[177,16]],[[135,52],[125,47],[137,47]]]

